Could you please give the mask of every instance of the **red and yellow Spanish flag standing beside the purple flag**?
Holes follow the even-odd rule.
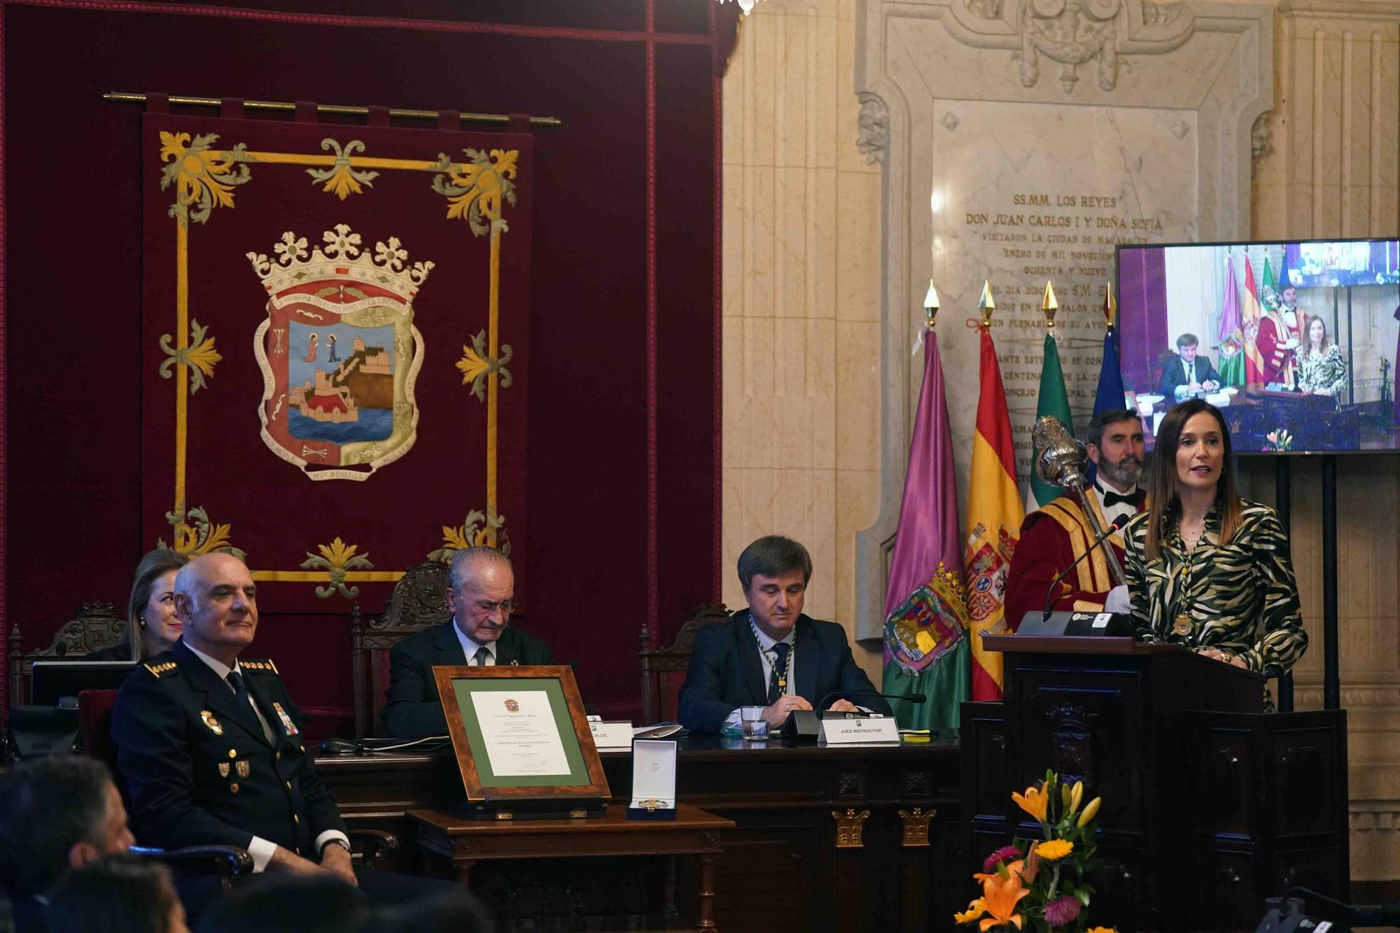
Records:
[[[1001,384],[991,331],[981,325],[981,396],[977,430],[972,440],[972,474],[967,479],[967,548],[963,570],[967,581],[967,629],[972,633],[972,698],[1001,699],[1001,654],[981,647],[981,635],[1000,632],[1002,598],[1011,552],[1025,511],[1016,493],[1016,448],[1011,441],[1011,415]]]

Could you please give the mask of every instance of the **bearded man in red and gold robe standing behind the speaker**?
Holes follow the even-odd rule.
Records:
[[[1147,450],[1137,412],[1120,408],[1095,415],[1089,422],[1088,447],[1099,475],[1085,496],[1100,525],[1107,528],[1114,520],[1126,521],[1142,511],[1147,490],[1138,486],[1138,478]],[[1044,611],[1051,580],[1081,558],[1093,538],[1093,527],[1074,493],[1058,496],[1026,516],[1007,577],[1008,626],[1018,628],[1026,612]],[[1109,546],[1119,566],[1123,565],[1123,535],[1113,532],[1057,584],[1053,609],[1102,612],[1107,607],[1109,612],[1127,611],[1127,587],[1116,586],[1109,574],[1103,553]]]

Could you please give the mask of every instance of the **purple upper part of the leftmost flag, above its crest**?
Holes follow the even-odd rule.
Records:
[[[914,415],[914,440],[909,448],[904,502],[890,555],[885,618],[909,595],[927,584],[938,563],[962,574],[962,534],[958,531],[958,482],[953,475],[953,438],[948,427],[944,364],[938,335],[924,333],[924,385]]]

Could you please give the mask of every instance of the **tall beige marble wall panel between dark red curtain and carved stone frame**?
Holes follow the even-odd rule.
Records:
[[[763,3],[724,80],[722,595],[743,605],[732,562],[785,534],[812,552],[806,611],[844,623],[879,490],[881,174],[855,144],[854,41],[851,0]]]

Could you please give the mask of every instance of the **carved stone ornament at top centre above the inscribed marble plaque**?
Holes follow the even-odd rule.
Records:
[[[1194,27],[1184,3],[1152,0],[960,0],[959,25],[980,48],[1014,49],[1022,87],[1040,81],[1040,56],[1060,63],[1065,94],[1079,66],[1093,62],[1099,88],[1113,91],[1127,55],[1161,55],[1186,42]]]

